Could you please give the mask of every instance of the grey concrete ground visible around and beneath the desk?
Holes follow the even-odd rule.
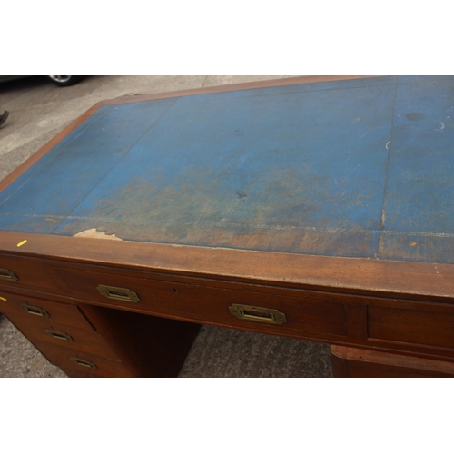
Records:
[[[60,88],[42,77],[0,84],[0,180],[93,104],[124,95],[154,94],[280,76],[89,76]],[[327,345],[202,327],[181,377],[331,377]],[[0,377],[65,377],[0,315]]]

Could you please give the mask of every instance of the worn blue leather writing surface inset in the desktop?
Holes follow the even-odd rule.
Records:
[[[0,229],[454,262],[454,78],[104,106],[0,193]]]

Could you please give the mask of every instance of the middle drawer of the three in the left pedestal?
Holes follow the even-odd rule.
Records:
[[[7,312],[5,315],[30,341],[44,341],[111,360],[119,360],[103,337],[94,330],[68,327],[45,318],[30,322],[30,318],[26,316]]]

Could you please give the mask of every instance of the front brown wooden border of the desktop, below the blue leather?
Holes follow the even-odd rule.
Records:
[[[257,252],[145,242],[108,242],[2,232],[0,251],[173,275],[255,282],[321,291],[446,301],[454,299],[454,265]],[[13,257],[13,255],[11,255]]]

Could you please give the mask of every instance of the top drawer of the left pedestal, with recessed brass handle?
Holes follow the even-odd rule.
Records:
[[[93,329],[77,306],[38,298],[16,296],[5,293],[5,291],[0,291],[0,311],[23,317],[24,323],[27,321],[35,323],[41,320],[81,330]]]

